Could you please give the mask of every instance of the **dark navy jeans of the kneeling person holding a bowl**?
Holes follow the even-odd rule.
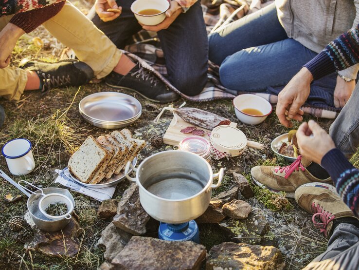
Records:
[[[120,17],[104,22],[91,9],[88,17],[120,49],[142,27],[130,6],[134,0],[117,0],[122,6]],[[188,96],[199,94],[207,82],[208,37],[200,1],[182,13],[168,27],[158,33],[166,61],[168,80]]]

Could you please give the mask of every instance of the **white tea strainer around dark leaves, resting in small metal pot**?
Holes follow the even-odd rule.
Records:
[[[51,203],[56,203],[56,202],[61,202],[66,204],[67,206],[67,213],[63,214],[63,215],[50,215],[47,212],[45,212],[46,208],[51,204]],[[44,216],[46,216],[47,218],[50,218],[52,220],[57,220],[57,219],[70,219],[71,218],[71,213],[73,211],[73,203],[71,201],[71,199],[69,197],[67,197],[64,194],[60,194],[60,193],[49,193],[46,194],[45,196],[43,196],[40,201],[38,202],[39,204],[39,209],[40,212],[43,213]]]

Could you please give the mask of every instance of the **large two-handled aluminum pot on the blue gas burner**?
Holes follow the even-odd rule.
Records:
[[[128,175],[130,167],[136,178]],[[178,150],[151,155],[137,169],[128,162],[125,169],[127,179],[139,187],[144,210],[156,220],[175,224],[195,219],[207,210],[211,191],[220,186],[223,174],[223,168],[213,174],[203,157]]]

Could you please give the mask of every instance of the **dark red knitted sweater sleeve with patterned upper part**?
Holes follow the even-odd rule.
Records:
[[[54,17],[64,4],[65,0],[3,0],[0,17],[15,14],[10,22],[29,33]]]

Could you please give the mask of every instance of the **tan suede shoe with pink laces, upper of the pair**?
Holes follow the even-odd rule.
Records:
[[[268,188],[272,192],[286,192],[286,197],[293,198],[295,190],[307,183],[321,182],[332,183],[330,177],[319,179],[311,174],[305,167],[312,163],[301,155],[290,165],[280,166],[255,166],[251,169],[253,181],[262,188]]]

